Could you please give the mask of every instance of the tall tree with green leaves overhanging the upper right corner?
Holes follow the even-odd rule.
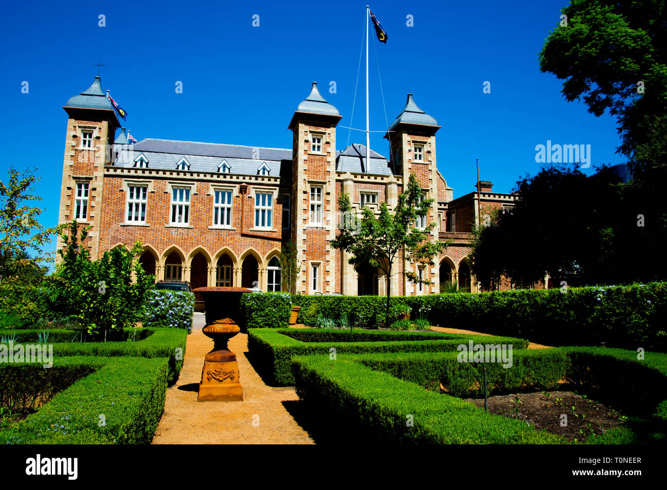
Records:
[[[583,96],[590,113],[618,117],[617,152],[633,170],[660,159],[664,165],[666,1],[575,0],[562,13],[540,53],[540,70],[565,80],[567,101]]]

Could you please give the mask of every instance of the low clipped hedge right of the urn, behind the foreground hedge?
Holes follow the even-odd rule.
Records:
[[[329,358],[329,349],[339,353],[378,353],[378,352],[443,352],[456,351],[461,343],[469,340],[478,343],[506,343],[514,349],[528,347],[528,341],[513,337],[486,337],[475,335],[452,335],[449,333],[412,333],[392,331],[359,331],[352,333],[353,341],[348,341],[345,331],[308,329],[297,333],[295,329],[249,329],[248,351],[253,367],[262,375],[264,381],[274,386],[292,386],[294,377],[291,371],[291,358],[295,355],[325,354]],[[307,333],[305,333],[307,332]],[[347,332],[349,336],[349,331]],[[292,338],[317,339],[317,342],[304,342]],[[380,341],[369,341],[372,337]],[[358,341],[363,338],[364,340]],[[395,340],[386,340],[395,339]],[[411,339],[411,340],[408,340]],[[414,339],[414,340],[412,340]]]

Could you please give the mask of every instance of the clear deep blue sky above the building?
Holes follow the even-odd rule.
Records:
[[[480,178],[509,192],[534,175],[535,147],[547,140],[591,145],[592,163],[616,164],[616,121],[567,103],[562,81],[540,73],[538,53],[566,0],[378,2],[388,33],[370,49],[371,129],[386,129],[406,103],[442,125],[438,169],[454,197]],[[9,3],[0,33],[0,180],[9,165],[38,167],[41,221],[57,223],[67,115],[62,106],[87,89],[98,56],[102,87],[127,111],[132,135],[264,147],[291,147],[287,124],[316,79],[350,126],[365,2]],[[252,26],[259,15],[259,27]],[[105,15],[105,27],[98,16]],[[414,27],[406,25],[412,15]],[[378,53],[376,61],[375,53]],[[382,75],[384,104],[378,79]],[[365,128],[364,59],[352,125]],[[21,93],[21,83],[29,93]],[[183,93],[175,83],[183,83]],[[336,93],[329,83],[336,82]],[[483,93],[490,81],[491,93]],[[338,149],[348,143],[339,128]],[[364,143],[352,131],[350,143]],[[388,155],[382,133],[371,147]],[[592,167],[586,172],[591,173]]]

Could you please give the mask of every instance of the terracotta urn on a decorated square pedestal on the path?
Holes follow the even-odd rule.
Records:
[[[229,350],[229,339],[239,333],[239,301],[243,287],[198,287],[205,303],[206,326],[202,333],[213,339],[213,349],[204,357],[197,401],[243,401],[239,363]]]

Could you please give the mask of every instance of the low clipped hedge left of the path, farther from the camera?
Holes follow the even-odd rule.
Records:
[[[129,335],[137,331],[139,337],[145,336],[137,341],[107,341],[107,342],[73,342],[75,332],[69,330],[51,330],[47,343],[53,343],[53,357],[70,356],[99,356],[99,357],[156,357],[169,358],[169,383],[175,382],[183,367],[185,356],[185,342],[187,332],[183,329],[172,328],[144,328],[126,329]],[[139,333],[145,331],[145,333]],[[4,335],[17,335],[17,342],[36,343],[37,333],[32,330],[6,330]],[[53,336],[53,337],[51,337]],[[65,340],[57,342],[56,340]],[[177,349],[181,349],[177,351]]]

